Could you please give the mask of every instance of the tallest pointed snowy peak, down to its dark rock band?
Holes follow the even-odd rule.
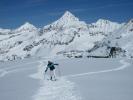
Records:
[[[68,44],[80,29],[87,29],[87,24],[66,11],[57,21],[44,26],[43,31],[46,40],[54,42],[54,44]]]

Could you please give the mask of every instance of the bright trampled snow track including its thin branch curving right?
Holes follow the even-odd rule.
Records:
[[[120,60],[122,66],[108,69],[108,70],[101,70],[95,72],[88,72],[88,73],[81,73],[81,74],[74,74],[74,75],[66,75],[59,78],[59,80],[55,82],[44,80],[46,77],[44,74],[43,69],[46,68],[46,61],[40,61],[40,65],[38,66],[38,73],[30,75],[30,77],[35,79],[40,79],[41,87],[38,90],[37,94],[33,96],[34,100],[82,100],[79,93],[74,91],[75,83],[69,81],[67,78],[74,78],[74,77],[84,77],[87,75],[95,75],[100,73],[108,73],[113,71],[119,71],[127,68],[130,64],[124,60]]]

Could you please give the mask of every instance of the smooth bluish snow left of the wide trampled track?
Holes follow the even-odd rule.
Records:
[[[2,100],[30,100],[37,91],[39,82],[27,77],[36,72],[37,63],[26,63],[28,60],[0,64],[0,69],[6,71],[6,74],[0,75],[0,98]]]

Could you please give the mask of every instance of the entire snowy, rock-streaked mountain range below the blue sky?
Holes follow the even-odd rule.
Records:
[[[36,28],[26,22],[17,29],[0,28],[0,60],[37,56],[107,56],[111,47],[117,56],[133,57],[133,19],[127,23],[99,19],[87,24],[69,11],[57,21]]]

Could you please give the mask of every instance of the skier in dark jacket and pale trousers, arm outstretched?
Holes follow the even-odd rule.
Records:
[[[59,65],[59,64],[54,64],[51,61],[48,61],[45,73],[48,71],[48,69],[50,70],[50,80],[56,80],[56,76],[55,76],[55,66],[54,65]]]

